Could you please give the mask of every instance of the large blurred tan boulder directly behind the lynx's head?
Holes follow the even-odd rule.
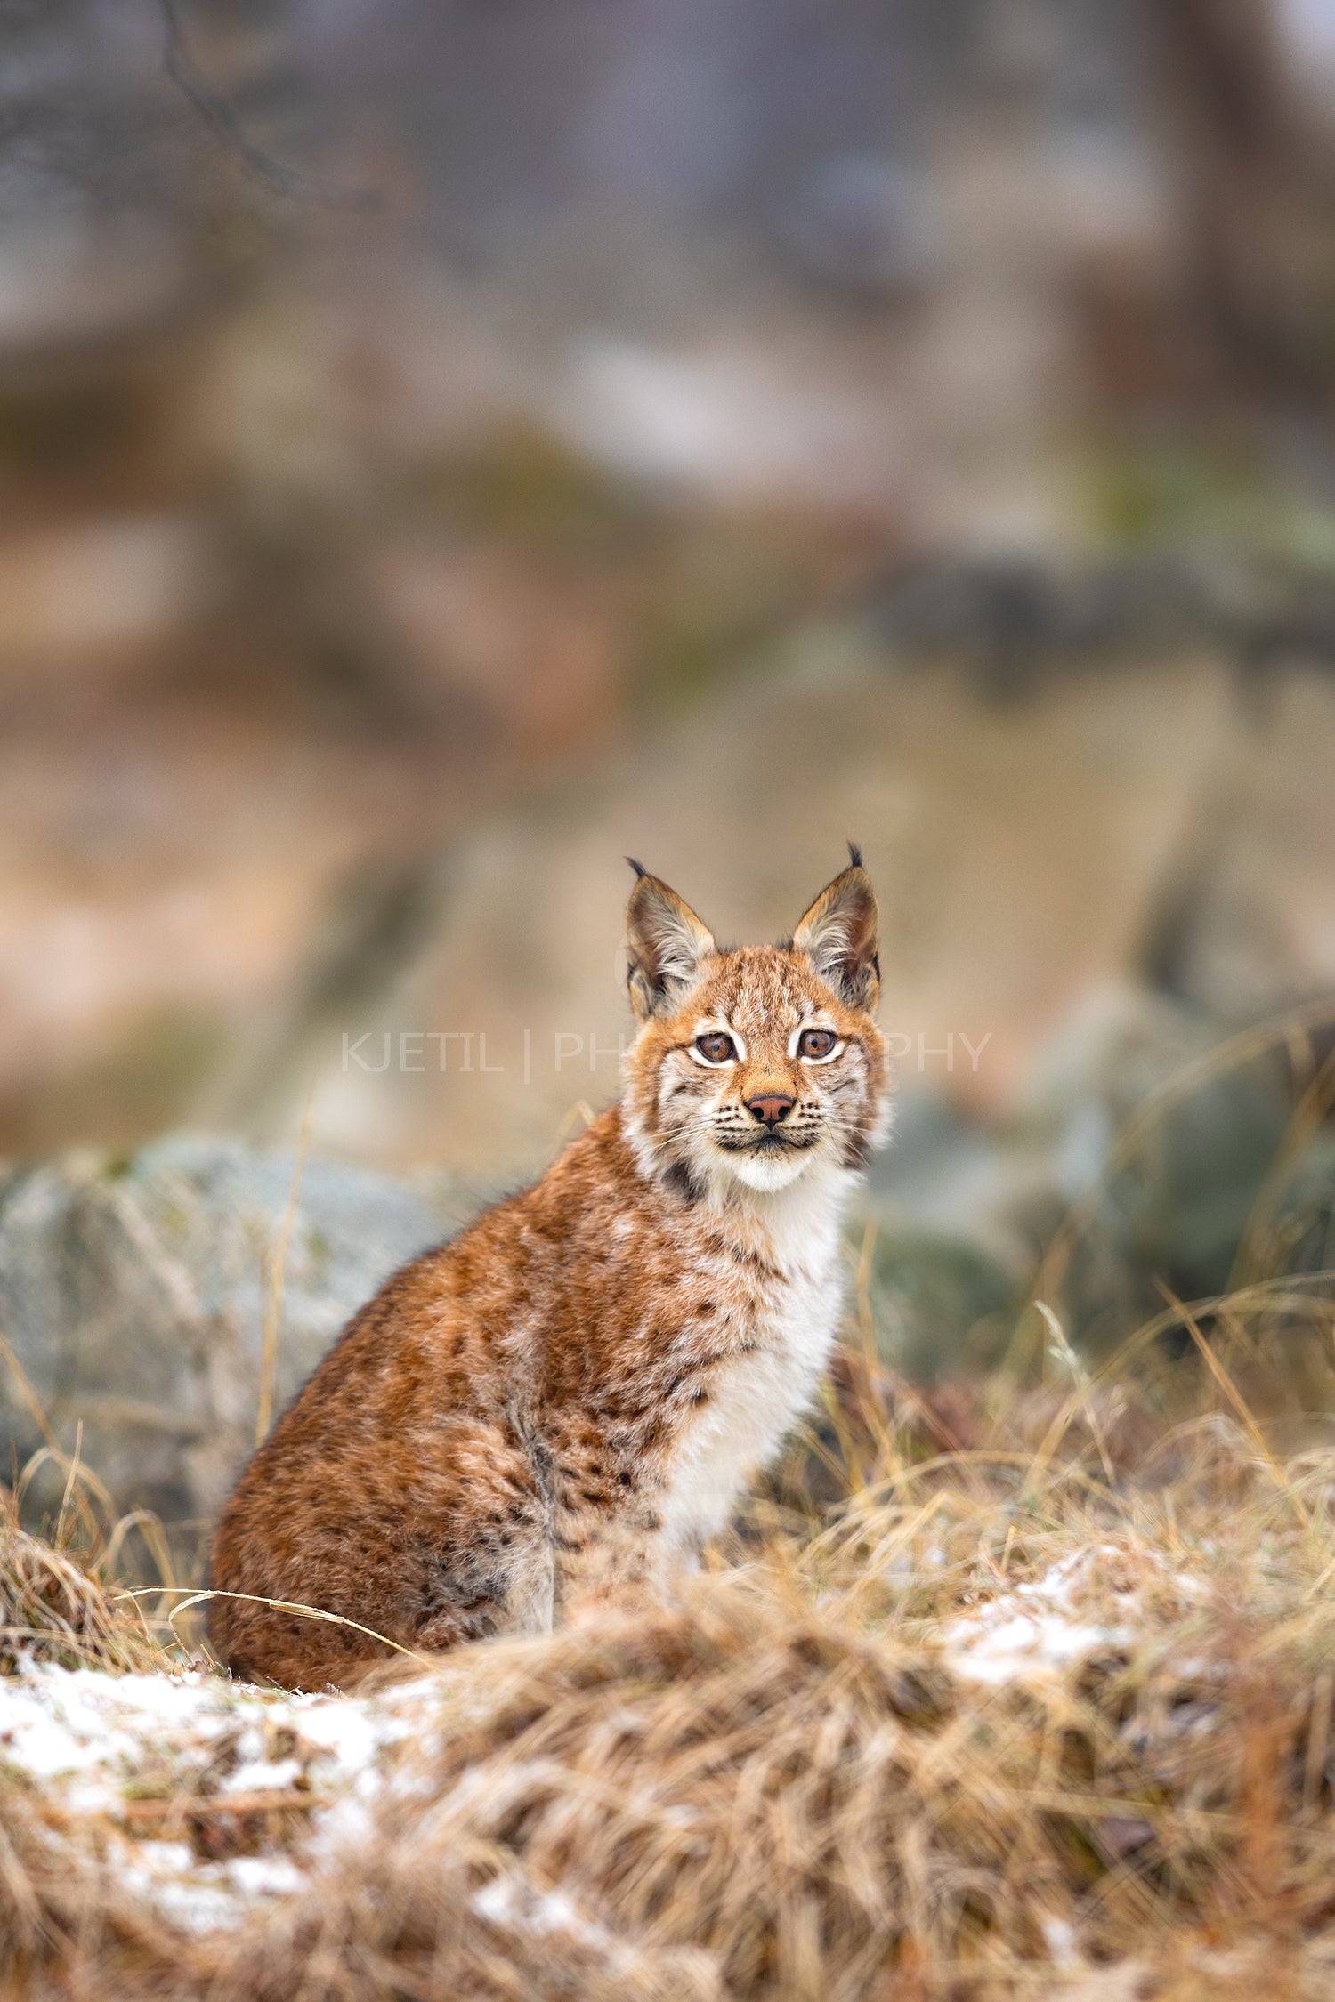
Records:
[[[536,1165],[584,1101],[616,1091],[622,857],[660,871],[723,937],[781,937],[847,835],[883,903],[881,1019],[901,1085],[1015,1109],[1057,1025],[1133,977],[1233,727],[1209,661],[1049,679],[997,705],[965,671],[809,627],[632,755],[476,825],[428,949],[346,1023],[352,1041],[370,1033],[376,1067],[330,1037],[316,1133]],[[404,1031],[454,1041],[416,1043],[406,1067]]]

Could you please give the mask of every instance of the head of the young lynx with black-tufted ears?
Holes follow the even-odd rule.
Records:
[[[640,1165],[697,1191],[783,1189],[861,1167],[889,1125],[877,899],[863,857],[781,945],[721,947],[638,863],[626,911],[626,1129]]]

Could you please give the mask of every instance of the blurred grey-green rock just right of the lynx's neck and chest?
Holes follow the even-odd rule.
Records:
[[[881,1361],[935,1381],[999,1359],[1031,1287],[1105,1353],[1161,1311],[1327,1271],[1335,1139],[1293,1125],[1315,1065],[1227,1045],[1217,1017],[1135,987],[1073,1011],[1007,1121],[905,1099],[869,1173]]]

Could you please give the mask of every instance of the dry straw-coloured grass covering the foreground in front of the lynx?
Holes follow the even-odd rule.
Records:
[[[815,1536],[771,1512],[679,1608],[416,1676],[314,1850],[196,1796],[200,1854],[306,1872],[236,1928],[162,1922],[96,1816],[0,1774],[12,1992],[1329,1996],[1335,1453],[1281,1461],[1219,1391],[1155,1431],[1123,1387],[1109,1479],[1089,1417],[1055,1449],[1053,1393],[997,1399],[939,1399],[969,1451],[901,1417],[879,1487]],[[12,1626],[144,1666],[68,1560],[10,1530],[2,1562]]]

